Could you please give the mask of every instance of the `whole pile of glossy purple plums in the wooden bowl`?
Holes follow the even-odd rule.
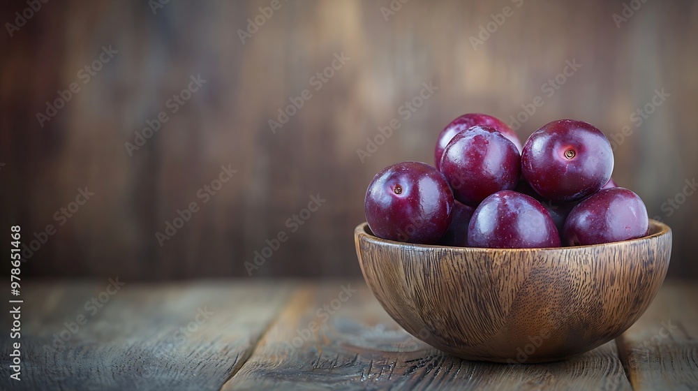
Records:
[[[609,140],[560,119],[521,145],[503,121],[454,119],[438,135],[436,168],[404,161],[373,177],[366,221],[399,242],[523,249],[584,246],[648,234],[639,196],[616,186]]]

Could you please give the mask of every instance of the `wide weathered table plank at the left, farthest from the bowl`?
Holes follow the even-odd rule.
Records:
[[[126,283],[119,290],[109,288],[110,295],[108,284],[25,288],[22,381],[3,374],[0,388],[219,390],[293,290],[292,283],[274,281],[199,281]],[[105,300],[97,301],[101,308],[85,307],[92,297]],[[84,316],[83,325],[77,324],[78,316]],[[3,324],[9,324],[6,319]],[[68,341],[54,348],[54,333],[61,332]],[[3,333],[0,349],[9,348]],[[0,365],[8,368],[6,354]]]

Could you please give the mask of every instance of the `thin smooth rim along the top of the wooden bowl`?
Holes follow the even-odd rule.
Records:
[[[534,248],[529,248],[529,249],[500,249],[500,248],[489,248],[489,247],[459,247],[459,246],[443,246],[439,244],[419,244],[419,243],[408,243],[408,242],[397,242],[395,240],[390,240],[390,239],[383,239],[382,237],[377,237],[376,235],[373,235],[371,232],[371,228],[369,228],[369,223],[364,221],[363,223],[360,223],[356,228],[354,229],[354,236],[356,239],[362,239],[366,238],[368,240],[371,240],[371,242],[376,242],[380,244],[387,244],[387,245],[392,245],[392,246],[410,246],[413,248],[417,249],[452,249],[455,251],[520,251],[520,252],[526,252],[526,251],[574,251],[578,249],[593,249],[595,247],[601,248],[604,246],[622,246],[623,244],[626,243],[631,243],[631,242],[641,242],[641,241],[646,241],[646,240],[652,240],[652,239],[658,239],[659,237],[665,236],[665,235],[670,235],[671,234],[671,228],[667,226],[667,224],[662,223],[661,221],[657,221],[654,219],[649,219],[649,232],[651,233],[650,235],[646,235],[644,237],[638,237],[637,239],[628,239],[628,240],[623,240],[621,242],[609,242],[609,243],[602,243],[602,244],[588,244],[586,246],[567,246],[567,247],[534,247]]]

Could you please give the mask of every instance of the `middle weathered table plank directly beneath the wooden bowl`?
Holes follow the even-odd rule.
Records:
[[[347,298],[341,293],[345,288],[357,292],[341,302]],[[333,304],[339,308],[330,313]],[[469,362],[410,336],[389,318],[363,282],[351,281],[299,289],[223,390],[609,387],[630,389],[613,341],[565,362]]]

